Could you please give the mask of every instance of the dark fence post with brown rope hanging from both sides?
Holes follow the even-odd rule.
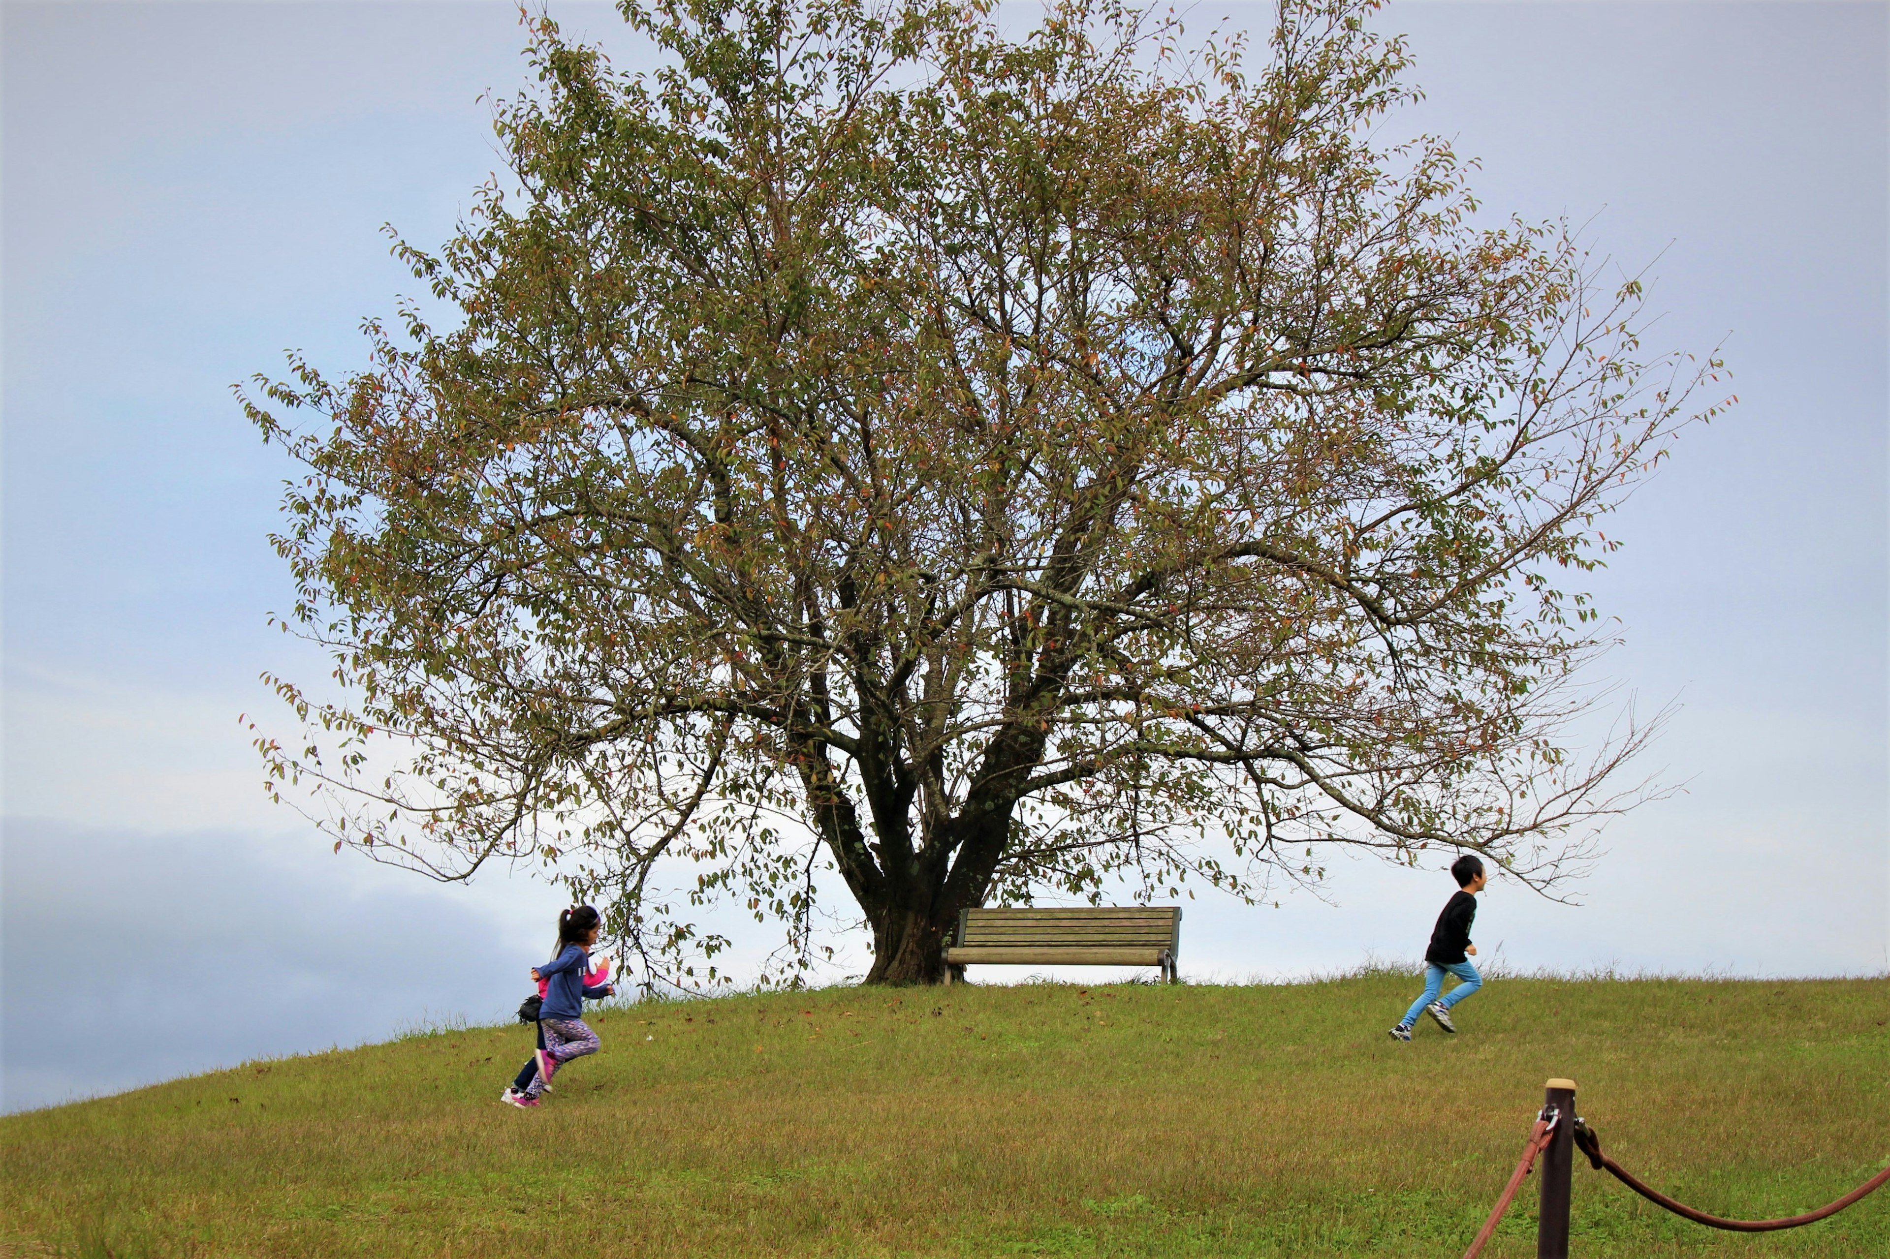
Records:
[[[1563,1115],[1569,1119],[1563,1121]],[[1484,1227],[1478,1229],[1476,1240],[1470,1242],[1470,1250],[1463,1251],[1463,1259],[1478,1259],[1478,1255],[1484,1253],[1484,1246],[1489,1244],[1489,1238],[1497,1233],[1497,1225],[1503,1223],[1503,1212],[1506,1212],[1510,1202],[1516,1200],[1516,1191],[1521,1189],[1523,1178],[1535,1170],[1538,1159],[1542,1161],[1542,1210],[1537,1225],[1537,1259],[1567,1259],[1571,1197],[1569,1168],[1572,1166],[1572,1149],[1580,1149],[1588,1155],[1589,1166],[1597,1172],[1608,1172],[1614,1180],[1622,1181],[1648,1202],[1654,1202],[1682,1219],[1692,1219],[1693,1223],[1707,1225],[1709,1229],[1727,1229],[1731,1233],[1773,1233],[1777,1229],[1797,1229],[1801,1225],[1818,1223],[1820,1219],[1830,1219],[1847,1206],[1890,1183],[1890,1166],[1886,1166],[1835,1202],[1820,1206],[1814,1212],[1805,1212],[1803,1216],[1786,1216],[1782,1219],[1726,1219],[1724,1216],[1710,1216],[1648,1187],[1633,1172],[1605,1155],[1601,1151],[1601,1136],[1588,1125],[1588,1121],[1574,1113],[1574,1081],[1550,1079],[1548,1098],[1537,1115],[1535,1127],[1529,1129],[1523,1157],[1510,1174],[1510,1183],[1503,1187],[1503,1195],[1497,1199],[1495,1208],[1491,1208],[1489,1219],[1486,1219]]]

